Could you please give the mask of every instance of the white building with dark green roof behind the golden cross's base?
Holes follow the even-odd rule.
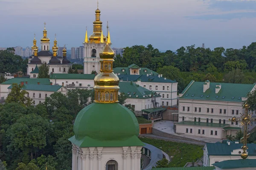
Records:
[[[213,166],[214,163],[241,159],[243,144],[225,141],[224,143],[207,143],[204,145],[204,167]],[[256,144],[247,144],[248,159],[256,159]]]

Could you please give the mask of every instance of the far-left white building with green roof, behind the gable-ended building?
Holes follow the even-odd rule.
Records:
[[[6,97],[9,94],[9,86],[12,85],[13,83],[17,84],[23,84],[24,85],[38,85],[38,82],[40,85],[49,85],[50,80],[49,79],[32,79],[32,78],[13,78],[9,79],[6,82],[3,82],[0,84],[0,99],[1,101],[4,101]]]

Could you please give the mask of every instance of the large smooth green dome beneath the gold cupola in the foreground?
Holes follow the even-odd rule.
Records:
[[[69,140],[79,147],[143,146],[134,113],[119,103],[93,103],[76,116]]]

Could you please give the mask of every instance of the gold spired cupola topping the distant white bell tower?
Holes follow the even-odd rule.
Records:
[[[99,3],[98,3],[99,4]],[[89,41],[92,43],[100,43],[102,33],[102,21],[100,20],[99,5],[95,11],[95,21],[93,22],[93,34],[89,37]],[[106,41],[105,35],[103,35],[104,41]]]

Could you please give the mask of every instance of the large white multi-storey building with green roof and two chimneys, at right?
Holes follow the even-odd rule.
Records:
[[[242,105],[256,84],[195,82],[180,94],[176,133],[223,139],[240,129],[229,121],[243,113]]]

